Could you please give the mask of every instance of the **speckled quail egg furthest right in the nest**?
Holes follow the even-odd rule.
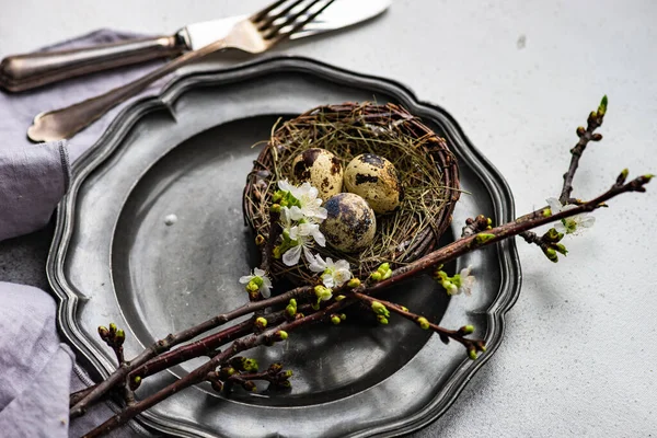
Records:
[[[362,153],[347,164],[344,184],[347,192],[362,196],[380,215],[394,211],[404,199],[396,169],[373,153]]]

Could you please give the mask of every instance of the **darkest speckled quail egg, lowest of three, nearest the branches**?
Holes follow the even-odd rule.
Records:
[[[327,217],[320,226],[326,242],[345,253],[368,246],[377,232],[377,218],[365,199],[353,193],[341,193],[324,203]]]

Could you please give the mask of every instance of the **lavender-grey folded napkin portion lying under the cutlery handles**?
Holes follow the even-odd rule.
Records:
[[[114,43],[137,36],[101,30],[44,50]],[[73,162],[87,151],[116,114],[134,100],[115,107],[68,142],[31,143],[25,132],[34,116],[104,93],[143,76],[160,64],[153,61],[74,78],[24,93],[0,92],[0,241],[38,230],[48,222],[68,188],[69,161]],[[155,93],[162,83],[154,83],[138,97]]]

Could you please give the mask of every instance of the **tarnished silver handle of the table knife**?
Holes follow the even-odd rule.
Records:
[[[184,43],[175,36],[155,36],[71,50],[13,55],[0,62],[0,88],[10,92],[32,90],[82,74],[176,56],[184,50]]]

